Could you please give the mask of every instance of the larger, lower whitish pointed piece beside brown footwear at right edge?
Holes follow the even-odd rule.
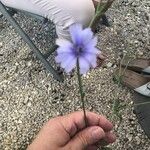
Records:
[[[150,86],[150,82],[147,84],[144,84],[134,90],[142,95],[150,97],[150,87],[149,86]]]

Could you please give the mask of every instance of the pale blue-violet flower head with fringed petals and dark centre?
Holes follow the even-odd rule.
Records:
[[[95,47],[97,37],[94,37],[91,28],[82,28],[80,24],[74,24],[69,28],[71,41],[66,39],[57,39],[56,44],[57,63],[65,69],[67,73],[72,71],[79,61],[80,74],[86,74],[92,67],[97,65],[97,55],[100,51]]]

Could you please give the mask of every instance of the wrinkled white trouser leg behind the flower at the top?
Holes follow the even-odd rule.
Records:
[[[6,6],[44,16],[56,25],[59,38],[69,38],[74,23],[88,26],[95,13],[92,0],[1,0]],[[98,0],[96,0],[98,1]]]

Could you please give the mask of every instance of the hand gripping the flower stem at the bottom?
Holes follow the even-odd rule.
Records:
[[[86,116],[88,127],[81,111],[50,119],[28,150],[96,150],[101,140],[107,144],[115,141],[111,122],[92,112]]]

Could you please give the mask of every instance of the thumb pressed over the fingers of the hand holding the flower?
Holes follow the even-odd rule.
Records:
[[[84,150],[105,137],[104,130],[99,126],[88,127],[78,132],[68,143],[72,150]]]

